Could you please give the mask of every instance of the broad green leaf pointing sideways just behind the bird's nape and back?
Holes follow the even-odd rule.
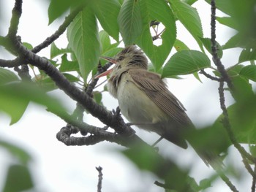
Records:
[[[211,61],[205,53],[197,50],[182,50],[167,61],[162,72],[162,78],[179,74],[192,74],[209,66],[211,66]]]

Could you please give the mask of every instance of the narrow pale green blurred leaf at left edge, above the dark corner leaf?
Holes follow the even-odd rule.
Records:
[[[23,148],[18,147],[18,145],[13,145],[10,142],[5,142],[0,139],[0,147],[4,147],[8,152],[12,153],[15,158],[18,158],[18,161],[21,164],[27,165],[29,161],[31,161],[31,155],[29,155]]]

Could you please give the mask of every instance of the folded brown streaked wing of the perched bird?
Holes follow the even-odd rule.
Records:
[[[168,91],[165,82],[162,81],[158,74],[144,69],[130,69],[128,73],[135,83],[138,84],[140,90],[144,91],[170,118],[176,120],[177,123],[181,123],[181,125],[188,126],[191,124],[185,112],[186,109],[176,96]]]

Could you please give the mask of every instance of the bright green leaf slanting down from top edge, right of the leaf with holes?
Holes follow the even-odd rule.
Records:
[[[176,18],[181,21],[185,28],[195,38],[197,44],[203,51],[203,45],[199,37],[203,37],[203,28],[197,9],[180,0],[169,0]]]

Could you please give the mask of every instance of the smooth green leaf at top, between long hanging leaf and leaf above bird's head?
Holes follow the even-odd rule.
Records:
[[[118,42],[119,27],[116,18],[118,18],[121,7],[119,2],[117,0],[94,0],[90,5],[102,28]]]

